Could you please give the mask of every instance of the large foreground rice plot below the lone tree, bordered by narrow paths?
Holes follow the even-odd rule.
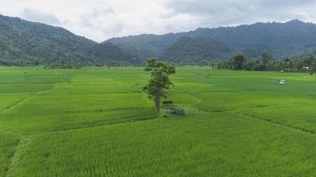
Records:
[[[37,135],[14,175],[296,176],[311,174],[315,143],[257,119],[201,114]]]

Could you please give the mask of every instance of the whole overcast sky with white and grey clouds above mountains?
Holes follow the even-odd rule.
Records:
[[[316,0],[0,0],[0,13],[65,27],[97,42],[143,33],[302,19]]]

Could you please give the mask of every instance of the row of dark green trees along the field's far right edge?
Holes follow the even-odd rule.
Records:
[[[277,60],[268,52],[262,53],[259,59],[249,59],[242,53],[237,53],[231,59],[214,61],[210,65],[217,69],[316,73],[316,55]]]

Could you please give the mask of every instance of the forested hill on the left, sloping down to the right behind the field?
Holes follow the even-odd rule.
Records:
[[[99,44],[61,27],[0,15],[2,65],[130,64],[134,60],[111,43]]]

